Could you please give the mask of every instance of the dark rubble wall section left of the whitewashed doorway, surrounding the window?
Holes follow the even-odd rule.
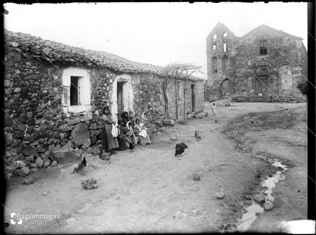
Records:
[[[62,72],[68,67],[57,63],[55,68],[11,50],[6,51],[4,62],[4,138],[9,162],[25,161],[31,155],[45,159],[49,158],[47,151],[57,147],[87,148],[101,142],[99,110],[109,105],[112,92],[108,72],[81,66],[88,71],[93,88],[91,104],[95,106],[65,109],[61,102]]]

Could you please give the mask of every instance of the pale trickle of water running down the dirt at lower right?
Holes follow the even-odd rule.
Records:
[[[262,157],[262,156],[261,156]],[[274,202],[274,197],[272,196],[272,189],[276,186],[276,183],[280,179],[284,179],[285,177],[281,174],[286,171],[288,168],[286,168],[285,165],[282,165],[281,162],[269,159],[269,162],[271,162],[271,165],[275,167],[281,167],[279,171],[277,171],[272,177],[269,177],[265,181],[261,183],[263,187],[266,187],[267,189],[264,191],[265,194],[265,202]],[[237,222],[237,231],[240,232],[246,232],[249,227],[251,226],[252,222],[257,219],[258,214],[264,212],[263,205],[260,206],[256,201],[252,200],[252,204],[246,208],[248,212],[243,214],[239,222]]]

